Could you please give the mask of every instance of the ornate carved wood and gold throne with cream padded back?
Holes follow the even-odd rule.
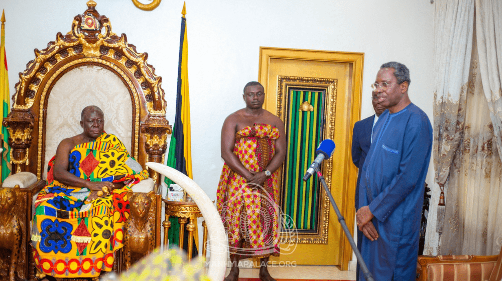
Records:
[[[125,34],[112,33],[110,21],[95,6],[94,1],[87,2],[87,10],[75,16],[70,32],[58,33],[41,51],[35,49],[35,59],[19,74],[12,110],[3,122],[10,133],[13,174],[36,176],[31,181],[35,183],[21,189],[14,210],[22,228],[16,268],[20,279],[36,279],[30,246],[33,197],[44,187],[47,163],[59,142],[82,131],[82,108],[99,106],[105,114],[105,131],[117,135],[143,168],[147,162],[162,163],[166,152],[171,126],[165,118],[162,78],[147,63],[148,54],[138,53]],[[155,225],[155,245],[159,246],[160,177],[151,169],[149,173],[155,200],[148,220]],[[119,251],[115,258],[117,271],[122,268],[121,255]]]

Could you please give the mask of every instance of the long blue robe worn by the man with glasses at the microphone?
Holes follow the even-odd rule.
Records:
[[[424,183],[432,126],[413,103],[384,111],[375,124],[362,167],[359,206],[368,206],[379,238],[362,240],[362,257],[374,280],[415,280]],[[359,280],[365,280],[359,271]]]

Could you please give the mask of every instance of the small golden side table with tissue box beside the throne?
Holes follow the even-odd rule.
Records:
[[[192,259],[192,248],[193,248],[193,231],[195,230],[195,224],[193,223],[199,217],[202,217],[199,207],[195,202],[179,202],[179,201],[168,201],[167,199],[162,199],[166,203],[166,220],[162,223],[164,226],[164,246],[168,246],[168,233],[171,227],[171,222],[169,221],[170,216],[179,217],[178,222],[180,223],[180,249],[183,249],[183,239],[184,231],[183,228],[188,222],[186,229],[188,230],[188,260]],[[204,234],[202,237],[202,256],[206,257],[206,242],[207,242],[207,225],[206,222],[202,222],[202,227],[204,228]]]

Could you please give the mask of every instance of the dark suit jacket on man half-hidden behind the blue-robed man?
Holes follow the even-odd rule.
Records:
[[[355,122],[352,132],[352,162],[359,169],[357,185],[355,186],[355,209],[359,209],[359,182],[361,181],[361,168],[371,146],[371,130],[375,114]]]

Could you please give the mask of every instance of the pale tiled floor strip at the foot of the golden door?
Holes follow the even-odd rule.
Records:
[[[226,271],[225,276],[230,268]],[[258,271],[258,268],[239,268],[239,277],[258,278]],[[355,280],[355,271],[340,271],[334,265],[270,266],[269,272],[274,278],[284,279]]]

